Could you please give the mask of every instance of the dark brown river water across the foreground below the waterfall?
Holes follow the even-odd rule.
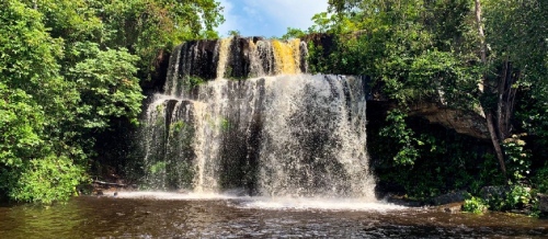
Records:
[[[345,200],[121,193],[49,208],[2,205],[0,238],[548,238],[548,220]]]

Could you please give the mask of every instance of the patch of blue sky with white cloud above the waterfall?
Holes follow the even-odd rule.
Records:
[[[316,13],[328,9],[328,0],[217,0],[225,8],[225,23],[217,31],[227,36],[282,36],[287,27],[307,30]]]

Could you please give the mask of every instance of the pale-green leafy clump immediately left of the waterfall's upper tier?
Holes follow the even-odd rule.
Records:
[[[137,56],[121,50],[100,50],[90,43],[80,48],[85,59],[69,70],[82,94],[78,112],[87,128],[104,128],[111,117],[125,116],[137,122],[144,99],[135,77]]]

